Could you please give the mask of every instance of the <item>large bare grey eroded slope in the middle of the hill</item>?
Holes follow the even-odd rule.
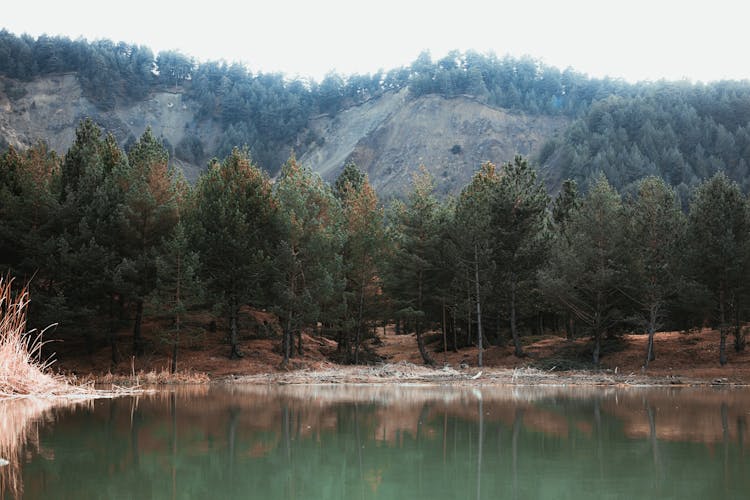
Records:
[[[457,192],[483,162],[535,155],[568,122],[564,117],[510,113],[464,96],[410,98],[402,90],[333,117],[315,118],[311,128],[324,141],[301,161],[328,180],[352,161],[386,196],[408,189],[412,172],[424,165],[438,192]]]

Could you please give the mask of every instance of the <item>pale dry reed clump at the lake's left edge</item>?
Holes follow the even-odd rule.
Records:
[[[28,289],[12,291],[11,279],[0,277],[0,398],[83,395],[60,375],[45,373],[52,364],[41,356],[43,331],[26,331]]]

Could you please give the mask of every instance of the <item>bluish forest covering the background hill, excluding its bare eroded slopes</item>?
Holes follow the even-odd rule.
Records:
[[[539,158],[532,158],[555,191],[565,178],[586,187],[599,172],[625,192],[644,176],[662,177],[683,203],[699,182],[719,171],[744,192],[749,187],[746,81],[631,84],[589,78],[529,57],[451,52],[433,60],[425,52],[406,67],[366,75],[329,73],[316,82],[252,73],[236,63],[198,64],[175,51],[154,55],[123,42],[34,39],[0,31],[0,75],[6,77],[3,91],[9,98],[24,92],[15,82],[64,72],[75,73],[85,95],[102,109],[158,90],[179,91],[196,102],[199,120],[222,127],[219,144],[209,148],[198,134],[187,133],[167,149],[197,165],[246,145],[258,165],[276,174],[291,149],[302,153],[326,140],[308,130],[312,117],[335,116],[385,92],[408,89],[412,98],[470,96],[512,112],[573,118],[564,132],[549,138]]]

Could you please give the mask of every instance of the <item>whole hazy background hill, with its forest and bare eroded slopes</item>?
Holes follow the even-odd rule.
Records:
[[[420,164],[456,192],[482,162],[518,153],[552,191],[598,172],[621,191],[659,175],[683,202],[717,171],[750,188],[750,82],[629,84],[471,51],[316,82],[0,30],[0,147],[45,140],[63,154],[86,116],[126,150],[151,126],[190,179],[247,145],[272,175],[292,150],[329,180],[354,161],[386,196]]]

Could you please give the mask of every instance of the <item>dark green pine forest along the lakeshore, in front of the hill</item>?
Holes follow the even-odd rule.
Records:
[[[174,369],[194,310],[215,314],[227,356],[242,357],[245,306],[278,318],[284,364],[305,330],[336,340],[339,362],[367,362],[384,322],[415,332],[427,364],[428,332],[446,349],[517,356],[526,335],[587,336],[595,364],[625,332],[717,326],[722,364],[745,348],[750,202],[724,172],[687,203],[660,177],[621,194],[603,173],[551,197],[520,156],[482,165],[455,197],[433,185],[421,171],[383,206],[356,165],[328,185],[292,155],[272,182],[234,148],[191,186],[150,130],[124,151],[84,120],[63,156],[43,142],[0,156],[0,272],[30,281],[30,326],[109,345],[113,363],[144,354],[144,318],[160,316]]]

